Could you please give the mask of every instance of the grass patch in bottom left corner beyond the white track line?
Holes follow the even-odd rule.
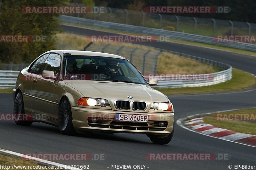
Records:
[[[10,167],[10,169],[12,168],[12,165],[15,166],[23,166],[23,167],[15,167],[15,170],[28,170],[28,169],[42,169],[45,170],[43,168],[29,168],[30,166],[40,166],[39,164],[37,164],[35,161],[33,160],[25,160],[25,159],[20,159],[20,158],[16,158],[16,157],[12,157],[9,155],[4,155],[2,153],[0,153],[0,165],[4,166],[6,168],[2,168],[2,169],[7,169],[7,166]],[[24,167],[27,166],[27,167]],[[29,166],[29,167],[28,167]],[[0,168],[1,169],[1,168]]]

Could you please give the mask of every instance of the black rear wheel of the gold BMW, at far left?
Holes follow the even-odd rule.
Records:
[[[13,113],[15,114],[14,121],[17,125],[30,126],[33,123],[33,121],[25,121],[22,120],[22,118],[20,119],[20,117],[22,117],[22,114],[25,114],[23,96],[20,91],[18,91],[15,95]]]

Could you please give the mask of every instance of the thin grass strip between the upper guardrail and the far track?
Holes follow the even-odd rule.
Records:
[[[70,23],[62,23],[62,24],[73,25],[73,26],[81,26],[81,27],[84,27],[84,28],[90,28],[90,29],[95,29],[95,30],[100,30],[100,31],[105,31],[105,32],[110,32],[110,33],[124,33],[124,34],[140,35],[140,34],[135,34],[135,33],[123,32],[123,31],[115,31],[115,30],[110,30],[110,29],[105,29],[105,28],[95,28],[95,27],[92,27],[92,26],[83,26],[83,25],[78,25],[78,24],[70,24]],[[246,54],[246,55],[256,55],[256,52],[253,52],[253,51],[248,51],[248,50],[243,50],[243,49],[238,49],[238,48],[218,46],[218,45],[211,45],[211,44],[206,44],[206,43],[202,43],[202,42],[194,42],[194,41],[186,41],[186,40],[175,40],[175,39],[169,39],[169,41],[185,43],[185,44],[190,44],[190,45],[198,45],[198,46],[202,46],[202,47],[216,48],[216,49],[227,50],[227,51],[231,51],[231,52],[234,52],[234,53],[241,53],[241,54]]]

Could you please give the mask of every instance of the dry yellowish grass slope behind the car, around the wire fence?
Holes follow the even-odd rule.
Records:
[[[57,48],[58,49],[69,49],[69,50],[83,50],[84,47],[90,43],[86,36],[70,34],[70,33],[60,33],[57,34]],[[106,44],[103,42],[97,42],[99,44]],[[111,42],[112,45],[126,46],[126,47],[139,47],[145,50],[155,50],[147,46],[126,43],[126,42]],[[171,53],[164,52],[159,55],[157,72],[160,73],[194,73],[194,74],[204,74],[217,72],[213,66],[199,63],[197,61],[182,58],[178,55],[173,55]]]

